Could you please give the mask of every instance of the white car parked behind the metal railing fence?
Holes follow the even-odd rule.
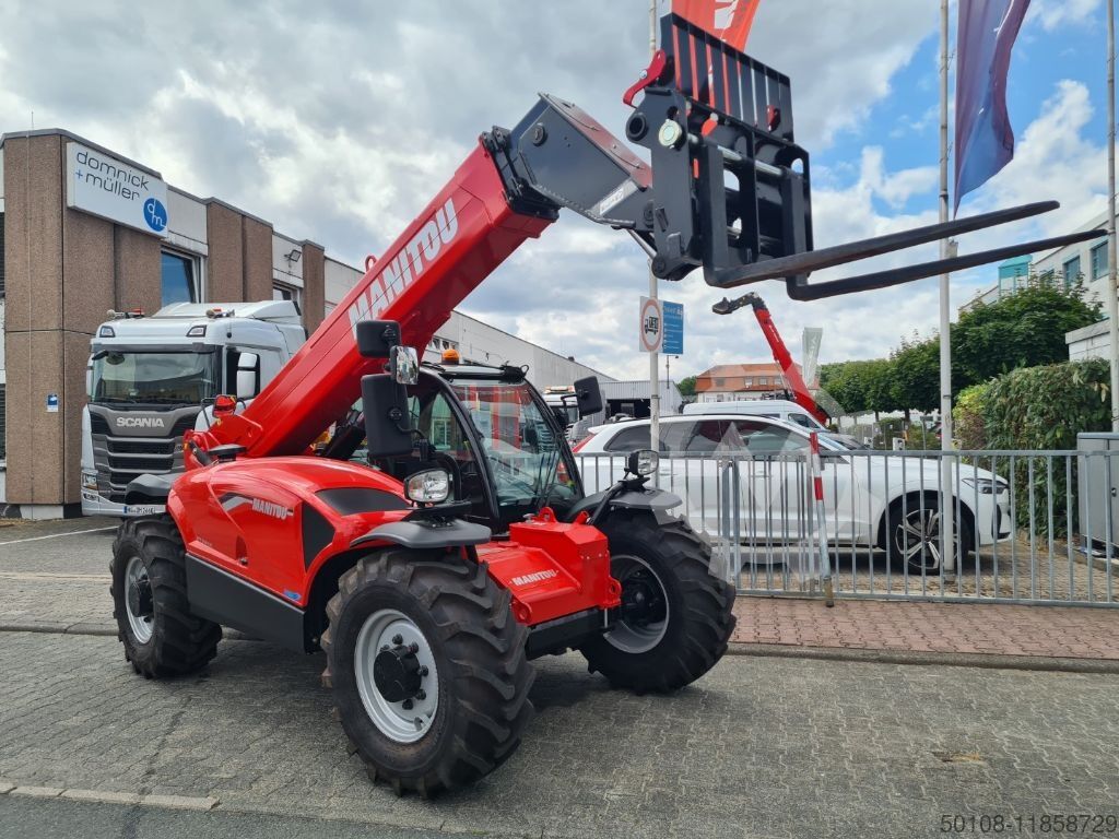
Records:
[[[829,544],[888,549],[911,569],[939,569],[940,462],[819,440]],[[814,498],[809,445],[807,430],[777,420],[662,417],[658,482],[685,499],[697,529],[725,535],[737,517],[742,541],[802,544]],[[627,453],[649,447],[648,420],[592,428],[576,446],[586,491],[605,489]],[[1002,478],[953,459],[944,490],[958,511],[960,556],[1009,536],[1009,488]]]

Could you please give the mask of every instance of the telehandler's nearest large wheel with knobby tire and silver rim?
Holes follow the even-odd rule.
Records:
[[[322,673],[369,777],[427,798],[492,772],[533,716],[528,630],[485,565],[386,548],[327,604]]]

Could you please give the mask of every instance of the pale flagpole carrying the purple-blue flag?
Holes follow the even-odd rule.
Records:
[[[948,0],[940,0],[940,220],[948,220]],[[940,241],[940,258],[948,258],[949,241]],[[940,275],[940,450],[952,450],[952,341],[951,341],[951,294],[949,275]],[[940,544],[953,545],[952,505],[944,501],[952,487],[951,461],[941,458],[940,483]],[[943,571],[946,575],[956,573],[956,550],[944,548]]]

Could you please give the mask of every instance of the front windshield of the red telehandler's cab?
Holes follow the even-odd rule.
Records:
[[[478,430],[502,507],[536,509],[576,496],[563,441],[526,385],[457,381],[453,388]]]

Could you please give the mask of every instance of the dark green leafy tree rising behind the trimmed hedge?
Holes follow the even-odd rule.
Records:
[[[1032,279],[997,302],[963,312],[952,326],[952,378],[957,389],[1019,367],[1069,360],[1064,333],[1100,319],[1080,283],[1069,289]]]

